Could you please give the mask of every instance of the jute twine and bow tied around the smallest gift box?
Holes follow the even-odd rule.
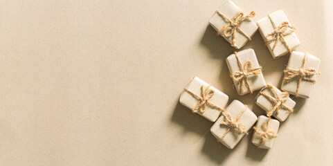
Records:
[[[264,142],[267,142],[267,140],[278,137],[278,135],[274,133],[273,129],[269,130],[270,122],[271,122],[271,117],[269,116],[267,122],[262,123],[262,129],[253,127],[254,131],[256,131],[261,136],[260,144],[257,146],[258,148],[261,147],[264,144]]]

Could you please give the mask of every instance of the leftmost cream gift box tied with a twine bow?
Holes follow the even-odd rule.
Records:
[[[193,77],[181,93],[179,102],[204,118],[215,122],[228,103],[228,95]]]

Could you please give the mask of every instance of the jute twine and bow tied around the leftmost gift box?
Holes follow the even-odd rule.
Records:
[[[217,105],[215,105],[209,101],[210,98],[212,98],[215,93],[215,91],[213,91],[212,89],[209,89],[209,88],[210,88],[210,86],[207,86],[206,89],[204,88],[204,86],[201,86],[201,96],[196,95],[192,91],[188,90],[188,88],[184,88],[185,91],[190,93],[190,95],[192,95],[193,97],[195,97],[198,100],[197,106],[195,106],[195,108],[192,109],[193,113],[195,113],[196,111],[199,111],[200,113],[204,113],[206,111],[207,105],[210,106],[211,108],[217,109],[221,112],[224,111],[224,109],[218,107]]]

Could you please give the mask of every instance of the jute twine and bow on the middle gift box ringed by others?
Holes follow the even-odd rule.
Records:
[[[246,61],[243,66],[242,62],[240,62],[240,57],[238,57],[237,52],[235,52],[235,56],[241,71],[233,72],[230,75],[230,77],[232,77],[235,80],[235,82],[238,82],[240,84],[241,92],[244,92],[244,86],[247,86],[249,88],[250,93],[253,93],[248,77],[249,75],[259,75],[261,73],[260,69],[262,67],[261,66],[253,67],[251,61]]]

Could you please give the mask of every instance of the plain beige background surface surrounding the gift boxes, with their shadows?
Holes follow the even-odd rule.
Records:
[[[0,1],[0,165],[332,165],[333,1],[246,1],[285,10],[301,45],[322,59],[310,99],[297,99],[273,149],[246,136],[219,148],[212,122],[178,102],[192,76],[240,97],[225,58],[233,48],[208,20],[223,1]],[[267,82],[273,59],[256,33]]]

